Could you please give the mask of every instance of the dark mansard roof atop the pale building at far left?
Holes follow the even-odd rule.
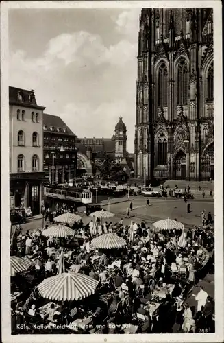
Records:
[[[45,107],[38,106],[36,103],[36,97],[33,89],[28,91],[27,89],[9,86],[9,102],[10,104],[18,104],[21,106],[29,106],[45,110]]]

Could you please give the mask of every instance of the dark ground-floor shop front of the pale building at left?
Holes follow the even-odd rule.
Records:
[[[42,189],[45,172],[10,174],[10,210],[31,208],[39,214],[42,206]]]

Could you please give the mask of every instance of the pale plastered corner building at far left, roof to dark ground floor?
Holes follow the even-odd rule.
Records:
[[[45,107],[36,104],[34,91],[9,88],[10,118],[10,209],[42,205],[43,134]]]

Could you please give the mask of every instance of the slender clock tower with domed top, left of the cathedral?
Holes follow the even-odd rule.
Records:
[[[119,118],[119,122],[115,127],[115,158],[116,161],[121,161],[122,158],[127,155],[127,129],[122,121],[122,117]]]

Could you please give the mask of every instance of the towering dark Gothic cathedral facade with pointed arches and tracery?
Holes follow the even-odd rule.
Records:
[[[135,177],[214,179],[212,8],[143,8]]]

